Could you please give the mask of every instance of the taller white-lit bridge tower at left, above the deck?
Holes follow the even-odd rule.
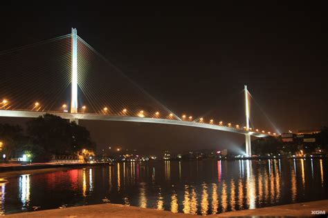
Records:
[[[78,30],[72,28],[71,113],[78,112]]]

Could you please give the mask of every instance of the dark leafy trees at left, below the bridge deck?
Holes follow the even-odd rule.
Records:
[[[44,162],[53,156],[76,156],[83,149],[95,149],[86,128],[61,117],[46,114],[28,121],[26,126],[27,136],[24,136],[20,126],[0,123],[0,141],[7,160],[20,153],[32,161]]]

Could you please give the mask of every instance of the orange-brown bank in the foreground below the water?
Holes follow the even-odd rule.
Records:
[[[258,208],[253,210],[236,210],[223,212],[218,215],[208,217],[250,217],[250,216],[289,216],[289,217],[309,217],[311,211],[328,212],[328,200],[310,201],[298,204],[287,204],[283,206],[273,206]],[[154,210],[138,208],[134,206],[122,206],[118,204],[97,204],[90,206],[77,206],[71,208],[40,210],[34,212],[23,212],[8,217],[199,217],[197,215],[185,215],[183,213],[173,213],[165,210]]]

